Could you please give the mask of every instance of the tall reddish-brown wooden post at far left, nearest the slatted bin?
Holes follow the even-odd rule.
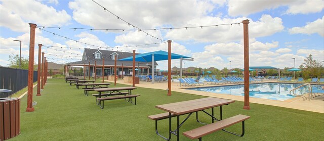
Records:
[[[34,74],[34,48],[35,48],[35,28],[36,24],[29,23],[30,37],[29,37],[29,63],[28,63],[28,95],[27,95],[27,109],[26,112],[34,111],[32,107],[32,81]]]

